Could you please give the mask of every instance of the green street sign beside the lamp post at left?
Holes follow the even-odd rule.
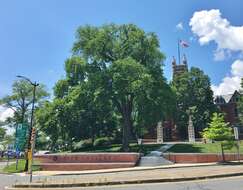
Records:
[[[18,124],[16,126],[15,148],[18,151],[24,151],[28,139],[28,125]]]

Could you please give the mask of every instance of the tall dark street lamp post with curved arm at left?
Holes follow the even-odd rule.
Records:
[[[35,96],[36,96],[36,87],[39,86],[37,82],[32,82],[29,78],[25,76],[18,75],[18,78],[24,79],[28,81],[33,86],[33,100],[32,100],[32,108],[31,108],[31,118],[30,118],[30,129],[29,129],[29,138],[28,138],[28,153],[31,152],[31,136],[33,130],[33,120],[34,120],[34,109],[35,109]],[[34,151],[34,150],[32,150]],[[33,152],[32,152],[33,156]],[[26,163],[25,163],[25,171],[28,171],[29,166],[29,155],[27,156]],[[32,182],[32,162],[30,166],[30,182]]]

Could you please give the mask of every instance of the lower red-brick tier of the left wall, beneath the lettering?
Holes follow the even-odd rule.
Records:
[[[45,171],[82,171],[113,168],[134,167],[135,162],[104,162],[104,163],[41,163],[40,167]]]

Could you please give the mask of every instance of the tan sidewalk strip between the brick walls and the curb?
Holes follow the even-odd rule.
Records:
[[[115,184],[173,182],[243,175],[243,165],[204,165],[180,168],[93,173],[46,179],[32,184],[16,184],[18,188],[61,188]]]

